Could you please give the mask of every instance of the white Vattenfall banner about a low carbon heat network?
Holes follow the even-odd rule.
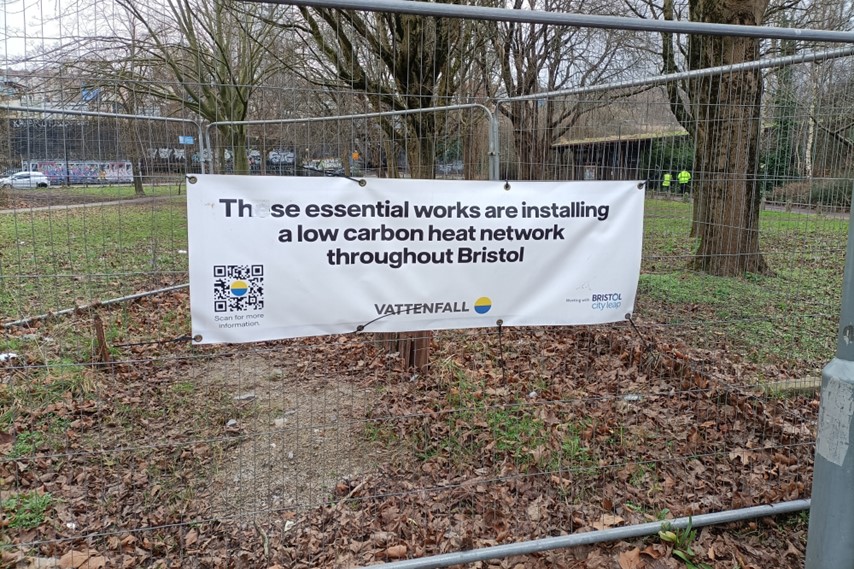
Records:
[[[638,182],[195,178],[197,343],[600,324],[634,309]]]

